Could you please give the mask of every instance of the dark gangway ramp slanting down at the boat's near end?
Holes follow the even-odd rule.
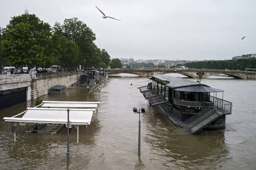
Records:
[[[192,116],[186,122],[183,123],[181,129],[177,129],[174,134],[187,132],[188,134],[196,134],[198,131],[208,126],[210,123],[220,118],[223,113],[217,110],[217,108],[211,108]]]

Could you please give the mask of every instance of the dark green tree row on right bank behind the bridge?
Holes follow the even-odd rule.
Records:
[[[186,67],[220,70],[244,70],[245,68],[256,68],[256,59],[251,58],[237,60],[207,60],[200,62],[190,62],[186,64]]]

